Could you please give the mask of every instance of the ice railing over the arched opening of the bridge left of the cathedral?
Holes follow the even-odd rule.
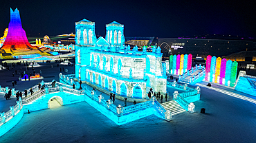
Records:
[[[64,85],[63,83],[59,83],[57,81],[55,81],[55,85],[53,85],[53,82],[44,83],[42,81],[42,85],[45,85],[44,89],[42,90],[38,89],[38,85],[33,86],[32,88],[34,89],[33,91],[35,92],[33,94],[30,94],[30,91],[29,91],[28,96],[22,100],[23,104],[28,104],[29,102],[33,102],[34,100],[46,94],[51,94],[51,93],[60,92],[60,91],[67,91],[72,94],[78,94],[78,95],[84,94],[83,90],[73,89],[72,86]]]

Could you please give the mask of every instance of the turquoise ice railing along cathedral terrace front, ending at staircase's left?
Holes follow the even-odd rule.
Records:
[[[165,109],[162,107],[162,105],[157,101],[147,101],[147,102],[141,102],[138,104],[134,104],[134,105],[130,105],[128,107],[122,107],[121,104],[118,104],[118,106],[116,106],[115,104],[113,104],[113,102],[109,99],[109,100],[105,100],[103,96],[101,95],[91,95],[91,91],[89,91],[86,87],[84,87],[84,92],[85,92],[85,96],[89,96],[89,98],[91,98],[91,100],[94,100],[95,102],[98,102],[98,104],[102,105],[102,107],[105,107],[107,109],[109,109],[111,112],[113,112],[114,114],[120,116],[120,115],[127,115],[129,113],[134,113],[143,109],[147,109],[150,107],[155,107],[154,109],[157,109],[158,112],[163,116],[162,118],[165,118],[165,120],[170,120],[170,116],[166,116],[165,115]],[[95,93],[95,92],[94,92]],[[169,114],[168,114],[169,115]]]

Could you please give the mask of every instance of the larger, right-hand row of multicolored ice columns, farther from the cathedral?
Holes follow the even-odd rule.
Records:
[[[237,61],[227,61],[225,58],[221,59],[220,57],[216,58],[216,56],[208,55],[205,67],[205,81],[235,87],[237,65]]]

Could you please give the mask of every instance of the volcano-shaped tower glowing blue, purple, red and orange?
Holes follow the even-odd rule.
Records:
[[[10,23],[8,34],[3,45],[0,47],[1,58],[14,58],[19,55],[31,55],[30,57],[51,56],[51,50],[43,47],[39,49],[37,46],[32,46],[28,43],[25,30],[21,25],[19,10],[10,9]],[[33,56],[32,56],[33,54]]]

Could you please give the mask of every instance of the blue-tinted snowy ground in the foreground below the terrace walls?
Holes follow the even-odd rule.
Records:
[[[121,126],[86,102],[69,104],[24,114],[0,142],[255,142],[256,104],[204,87],[194,104],[170,122],[150,115]]]

